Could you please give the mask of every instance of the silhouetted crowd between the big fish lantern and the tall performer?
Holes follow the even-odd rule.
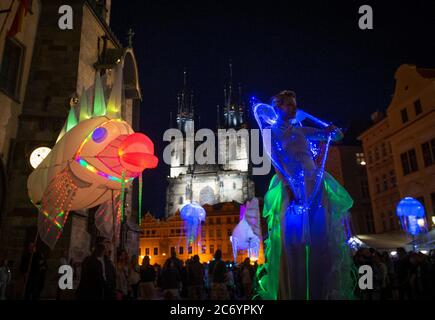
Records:
[[[228,300],[251,299],[254,293],[257,264],[249,258],[240,265],[222,260],[217,250],[210,263],[199,256],[183,262],[175,251],[163,267],[150,263],[145,256],[128,257],[125,251],[111,260],[110,243],[97,243],[93,253],[81,266],[76,291],[80,300]]]

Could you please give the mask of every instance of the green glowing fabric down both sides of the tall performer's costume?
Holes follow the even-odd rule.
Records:
[[[352,299],[355,285],[355,271],[349,246],[346,243],[343,219],[353,205],[349,193],[327,172],[324,174],[323,186],[328,201],[330,222],[330,255],[334,261],[331,270],[331,299]],[[272,177],[269,189],[264,198],[263,217],[266,218],[269,237],[265,241],[265,263],[258,268],[258,290],[255,298],[276,300],[279,289],[279,266],[281,258],[281,206],[284,192],[282,182],[277,175]],[[307,249],[306,249],[307,250]],[[309,248],[308,252],[309,254]],[[308,255],[306,256],[307,262]],[[307,266],[308,268],[308,266]],[[307,280],[308,281],[308,280]],[[307,282],[308,285],[308,282]],[[307,295],[309,291],[307,290]],[[307,296],[307,298],[309,298]]]

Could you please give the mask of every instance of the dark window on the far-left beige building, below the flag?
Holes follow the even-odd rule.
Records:
[[[0,66],[0,88],[13,98],[19,97],[20,75],[24,47],[12,38],[7,38]]]

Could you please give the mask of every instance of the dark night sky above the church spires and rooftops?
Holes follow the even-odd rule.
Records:
[[[358,28],[364,4],[373,8],[374,30]],[[200,126],[213,129],[230,59],[247,101],[292,89],[302,109],[343,128],[386,109],[401,64],[435,68],[435,1],[112,0],[111,27],[124,44],[127,30],[135,32],[142,131],[160,159],[184,68]],[[157,216],[168,173],[160,161],[144,174],[143,206]],[[263,196],[267,179],[254,180]]]

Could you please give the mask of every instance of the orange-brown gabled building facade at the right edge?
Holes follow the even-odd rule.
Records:
[[[429,229],[435,224],[435,69],[401,65],[386,114],[360,139],[376,232],[398,228],[396,206],[411,196],[425,207]]]

